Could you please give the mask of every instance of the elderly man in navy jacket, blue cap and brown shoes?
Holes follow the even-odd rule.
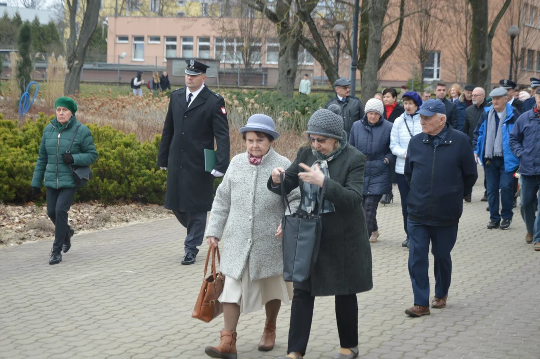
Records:
[[[463,194],[469,193],[478,178],[470,140],[446,124],[442,101],[427,100],[418,113],[423,133],[410,140],[404,169],[410,184],[407,224],[409,275],[414,293],[414,306],[405,313],[413,317],[430,314],[430,242],[435,259],[435,297],[431,307],[446,307],[452,274],[450,252],[457,239]]]

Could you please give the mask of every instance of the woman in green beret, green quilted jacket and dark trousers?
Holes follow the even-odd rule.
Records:
[[[68,211],[77,192],[72,166],[90,166],[98,158],[90,130],[75,117],[75,101],[69,97],[59,97],[55,107],[56,117],[43,131],[32,177],[34,196],[41,192],[44,182],[47,188],[47,214],[55,223],[55,242],[49,259],[51,265],[62,261],[60,252],[68,252],[71,236],[75,233],[68,224]],[[75,133],[71,151],[66,153]]]

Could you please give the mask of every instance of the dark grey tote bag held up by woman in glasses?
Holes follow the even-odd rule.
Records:
[[[292,213],[285,187],[284,175],[281,177],[281,197],[285,202],[285,208]],[[325,181],[326,185],[326,181]],[[322,229],[322,208],[324,208],[325,185],[319,192],[320,198],[318,213],[298,214],[283,216],[281,221],[281,233],[283,240],[283,279],[286,282],[303,282],[309,278],[317,256]]]

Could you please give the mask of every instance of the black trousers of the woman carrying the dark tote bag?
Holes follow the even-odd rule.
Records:
[[[291,306],[291,327],[289,328],[289,344],[287,353],[296,351],[302,356],[306,355],[311,322],[313,320],[313,306],[315,297],[306,290],[294,289]],[[335,296],[336,322],[340,346],[342,348],[355,348],[358,346],[358,302],[356,294]]]

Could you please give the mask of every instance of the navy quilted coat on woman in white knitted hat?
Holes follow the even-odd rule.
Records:
[[[390,151],[390,132],[392,124],[387,120],[381,118],[374,126],[370,126],[366,116],[356,121],[350,130],[349,144],[362,152],[366,160],[363,195],[386,194],[392,191],[390,168],[396,161]]]

